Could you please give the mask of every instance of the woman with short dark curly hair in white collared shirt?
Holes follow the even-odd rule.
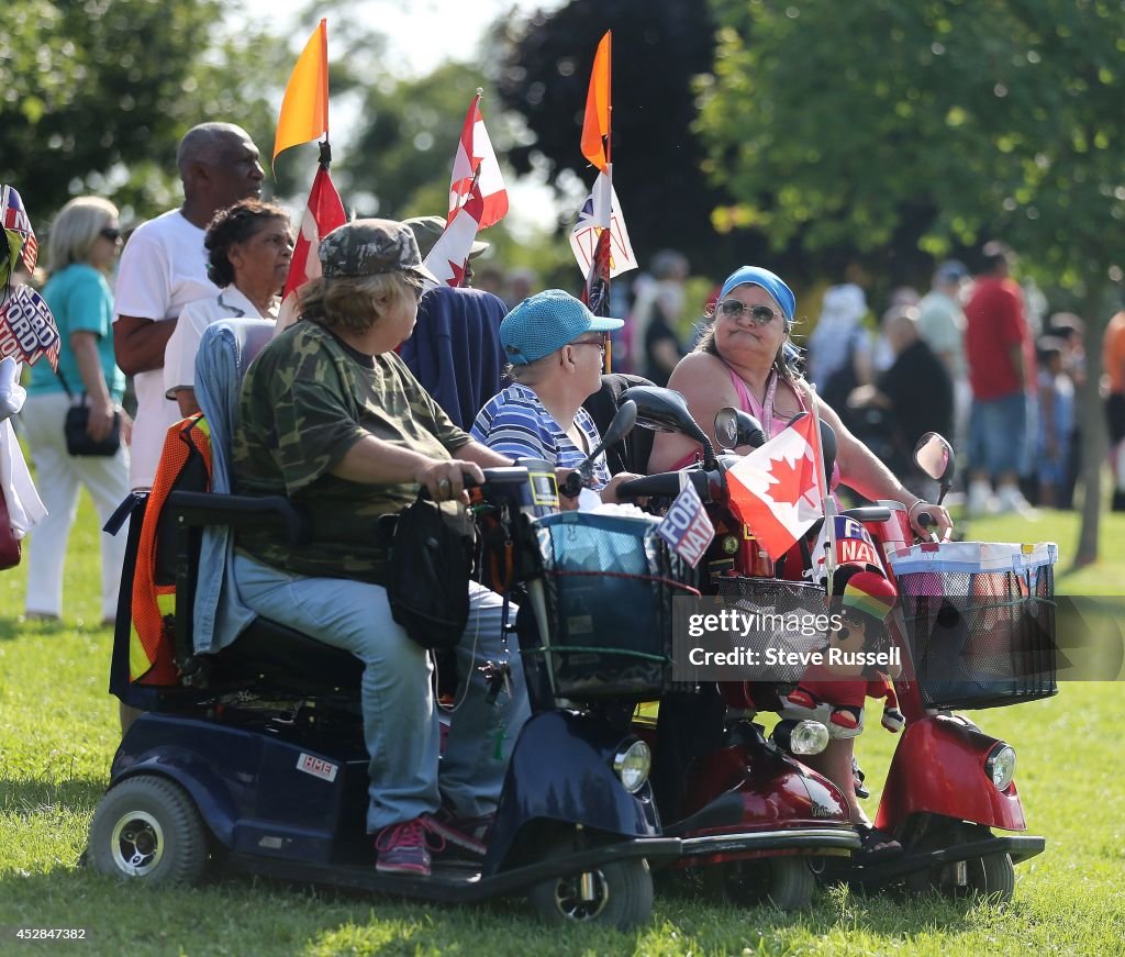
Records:
[[[215,215],[204,245],[207,276],[219,291],[183,307],[164,350],[164,395],[183,416],[199,412],[196,353],[204,329],[220,319],[277,318],[278,295],[292,260],[289,214],[271,202],[240,200]]]

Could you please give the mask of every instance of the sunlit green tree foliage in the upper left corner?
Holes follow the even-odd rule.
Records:
[[[234,37],[218,0],[10,0],[0,31],[0,181],[33,224],[84,192],[135,217],[178,201],[176,144],[191,126],[273,116],[256,75],[272,45]]]

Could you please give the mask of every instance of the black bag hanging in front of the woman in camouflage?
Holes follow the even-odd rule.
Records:
[[[454,648],[469,621],[472,518],[424,496],[396,516],[387,598],[390,613],[423,648]]]

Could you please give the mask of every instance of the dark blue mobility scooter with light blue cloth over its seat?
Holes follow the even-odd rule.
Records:
[[[358,659],[261,617],[218,653],[196,652],[198,630],[222,629],[228,617],[231,530],[267,522],[295,541],[307,534],[286,499],[227,494],[238,380],[271,332],[271,323],[234,319],[204,337],[201,354],[209,358],[200,360],[197,394],[212,433],[212,486],[169,495],[160,544],[172,557],[169,568],[160,568],[159,556],[156,562],[158,575],[177,584],[174,621],[165,620],[177,677],[137,701],[146,711],[115,756],[88,863],[148,885],[192,883],[212,866],[453,903],[526,894],[555,922],[629,928],[647,920],[648,860],[675,859],[682,846],[662,836],[648,748],[629,717],[633,701],[666,687],[666,667],[654,663],[662,656],[646,642],[666,639],[659,635],[670,628],[670,597],[654,606],[651,631],[631,632],[632,654],[552,648],[566,644],[567,626],[588,632],[590,616],[605,612],[587,608],[584,617],[574,604],[582,588],[568,592],[565,579],[549,574],[577,563],[590,576],[616,554],[616,574],[632,585],[648,584],[654,561],[663,562],[662,580],[686,577],[666,552],[654,551],[646,522],[579,527],[576,539],[569,516],[539,517],[555,502],[552,473],[486,470],[474,511],[501,556],[493,567],[508,583],[525,583],[519,630],[534,713],[514,744],[483,859],[435,860],[430,877],[379,874],[372,863]],[[142,499],[129,527],[116,671],[129,641],[128,579],[143,509]],[[610,542],[612,534],[620,541]]]

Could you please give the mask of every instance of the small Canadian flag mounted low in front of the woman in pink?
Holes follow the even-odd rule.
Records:
[[[816,427],[816,416],[801,415],[727,472],[731,511],[774,561],[825,514]]]

